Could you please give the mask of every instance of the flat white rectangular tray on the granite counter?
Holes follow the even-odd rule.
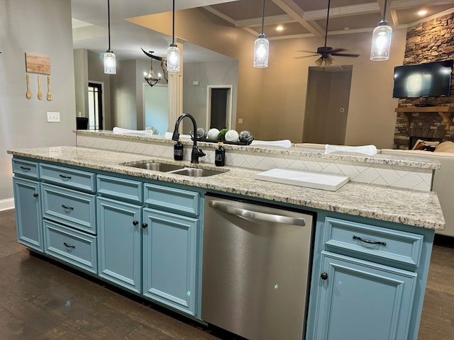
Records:
[[[272,169],[263,171],[256,174],[255,179],[328,191],[336,191],[338,188],[341,188],[341,186],[350,181],[350,177],[348,176],[289,169]]]

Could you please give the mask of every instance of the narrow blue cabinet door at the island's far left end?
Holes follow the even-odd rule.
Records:
[[[44,251],[40,183],[14,177],[13,191],[18,242]]]

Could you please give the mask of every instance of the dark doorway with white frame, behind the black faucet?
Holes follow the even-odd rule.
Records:
[[[206,129],[231,129],[233,85],[208,85],[206,91]]]

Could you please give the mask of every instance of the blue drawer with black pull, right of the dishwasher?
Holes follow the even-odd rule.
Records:
[[[344,249],[357,257],[371,255],[375,259],[419,266],[423,235],[331,217],[325,223],[324,240],[328,248]]]

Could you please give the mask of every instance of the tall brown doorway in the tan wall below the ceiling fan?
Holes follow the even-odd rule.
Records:
[[[345,144],[352,69],[309,67],[303,142]]]

